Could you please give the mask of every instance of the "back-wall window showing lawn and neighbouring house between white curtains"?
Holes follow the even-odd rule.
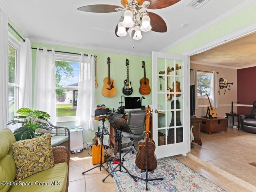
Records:
[[[78,93],[79,63],[55,61],[57,121],[74,121]],[[65,118],[63,118],[65,117]],[[72,117],[72,118],[66,118]]]

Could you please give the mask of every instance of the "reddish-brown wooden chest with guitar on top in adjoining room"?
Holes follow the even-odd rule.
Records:
[[[228,119],[227,118],[202,118],[201,131],[206,131],[210,134],[212,132],[225,131],[227,132]]]

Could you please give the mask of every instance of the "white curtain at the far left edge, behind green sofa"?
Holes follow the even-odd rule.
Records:
[[[0,130],[8,122],[8,17],[0,10]]]

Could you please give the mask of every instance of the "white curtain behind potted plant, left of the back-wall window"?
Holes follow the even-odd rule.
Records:
[[[37,48],[33,109],[47,112],[56,124],[54,49],[48,52],[47,48]]]

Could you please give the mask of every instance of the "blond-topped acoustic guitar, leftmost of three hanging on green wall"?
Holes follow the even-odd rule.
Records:
[[[116,88],[114,80],[110,78],[110,57],[108,57],[108,77],[104,78],[104,86],[102,88],[102,95],[105,97],[114,97],[116,95]]]

